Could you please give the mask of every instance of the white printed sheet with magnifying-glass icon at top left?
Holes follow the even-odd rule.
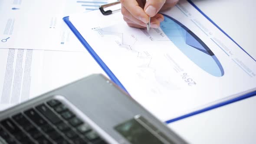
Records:
[[[0,48],[84,51],[62,17],[116,0],[2,0]]]

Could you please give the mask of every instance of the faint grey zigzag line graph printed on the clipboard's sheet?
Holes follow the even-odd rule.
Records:
[[[125,26],[125,25],[124,25]],[[122,28],[121,26],[95,27],[92,28],[105,41],[115,41],[119,48],[127,49],[132,53],[129,59],[134,62],[135,76],[143,79],[148,89],[155,93],[161,94],[162,88],[167,90],[177,89],[177,85],[171,82],[171,68],[163,68],[158,63],[158,58],[154,58],[144,47],[142,37],[136,36],[138,33],[144,33],[144,39],[151,35],[144,29]],[[130,54],[131,54],[130,53]],[[163,56],[162,61],[166,61]]]

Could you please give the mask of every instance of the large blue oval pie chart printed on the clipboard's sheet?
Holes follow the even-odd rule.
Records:
[[[190,29],[167,15],[164,15],[160,27],[174,45],[201,69],[213,76],[224,75],[220,61]]]

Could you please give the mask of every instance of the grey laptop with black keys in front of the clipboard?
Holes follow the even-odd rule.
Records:
[[[186,144],[101,74],[0,112],[0,144]]]

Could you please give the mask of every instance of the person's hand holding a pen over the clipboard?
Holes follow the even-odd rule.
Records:
[[[121,13],[128,26],[145,28],[151,17],[152,28],[158,28],[164,16],[158,13],[175,6],[179,0],[120,0]]]

